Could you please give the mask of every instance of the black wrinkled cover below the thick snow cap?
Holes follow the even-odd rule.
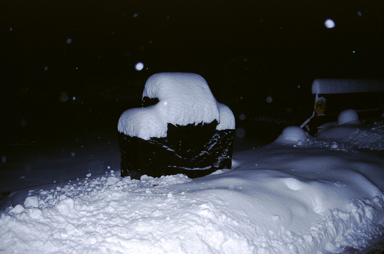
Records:
[[[234,130],[216,130],[217,122],[168,124],[167,137],[144,140],[119,134],[121,176],[140,179],[185,174],[189,178],[231,168]]]

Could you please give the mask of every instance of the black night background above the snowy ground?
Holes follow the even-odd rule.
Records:
[[[3,149],[117,132],[145,80],[169,71],[202,75],[239,137],[269,142],[311,116],[313,79],[382,78],[383,32],[381,0],[2,0]]]

